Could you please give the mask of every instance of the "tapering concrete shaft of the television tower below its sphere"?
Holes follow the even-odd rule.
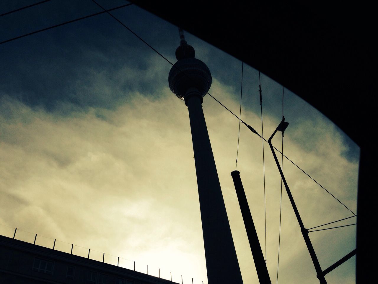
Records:
[[[231,228],[202,110],[202,95],[190,89],[189,110],[209,284],[242,284]]]

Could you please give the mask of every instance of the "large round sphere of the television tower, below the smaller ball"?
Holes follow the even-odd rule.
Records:
[[[186,92],[195,88],[202,97],[211,86],[211,73],[201,60],[189,57],[179,59],[169,71],[169,88],[178,98],[185,99]]]

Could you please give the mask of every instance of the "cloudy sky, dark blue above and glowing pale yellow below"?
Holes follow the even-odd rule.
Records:
[[[0,14],[31,3],[4,1]],[[99,11],[91,0],[51,0],[0,17],[0,41]],[[176,61],[177,27],[135,5],[112,13]],[[209,93],[239,114],[242,62],[186,39],[211,70]],[[22,240],[37,233],[61,241],[62,250],[74,243],[77,254],[91,248],[109,262],[120,256],[141,272],[149,265],[149,274],[160,268],[164,278],[172,272],[176,282],[182,274],[184,283],[206,284],[189,115],[169,90],[170,64],[107,14],[2,44],[0,57],[0,233],[17,227]],[[242,119],[261,134],[258,70],[244,65],[243,73]],[[268,138],[282,118],[282,86],[261,74],[261,87]],[[256,283],[230,176],[239,121],[209,96],[203,111],[243,280]],[[285,155],[356,213],[359,148],[286,88],[284,114]],[[280,134],[273,144],[281,148]],[[276,282],[281,181],[267,144],[265,167],[266,258]],[[243,125],[237,169],[265,251],[262,141]],[[353,215],[285,159],[283,169],[306,228]],[[319,283],[285,191],[281,222],[278,282]],[[355,248],[355,229],[310,233],[323,269]],[[355,257],[326,279],[354,283]]]

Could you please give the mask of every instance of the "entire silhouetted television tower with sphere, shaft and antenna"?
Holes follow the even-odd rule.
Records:
[[[171,91],[185,101],[189,110],[208,283],[242,284],[201,106],[211,86],[211,73],[202,61],[194,58],[194,48],[186,43],[181,29],[179,33],[180,46],[176,49],[178,61],[170,69],[168,81]]]

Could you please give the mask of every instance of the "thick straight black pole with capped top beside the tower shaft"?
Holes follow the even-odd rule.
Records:
[[[240,179],[240,172],[235,170],[231,173],[231,176],[232,180],[234,181],[237,199],[239,200],[240,211],[242,211],[244,226],[247,232],[249,246],[251,247],[259,282],[260,284],[271,284],[259,238],[257,237],[256,228],[253,223],[251,211],[249,210],[247,198],[245,196],[242,179]]]

